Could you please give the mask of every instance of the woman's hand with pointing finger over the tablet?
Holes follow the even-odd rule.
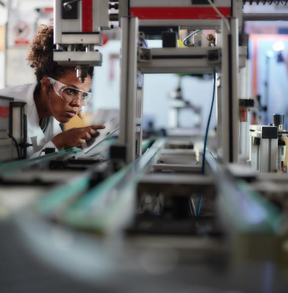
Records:
[[[81,147],[82,143],[91,139],[92,136],[98,135],[97,129],[103,129],[105,125],[90,125],[80,128],[71,128],[63,131],[52,138],[58,150],[62,148],[68,149],[74,146]]]

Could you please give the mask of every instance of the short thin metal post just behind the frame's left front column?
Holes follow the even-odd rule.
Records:
[[[143,74],[138,74],[136,105],[136,158],[142,155],[143,78]]]

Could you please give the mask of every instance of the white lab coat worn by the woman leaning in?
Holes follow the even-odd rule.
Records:
[[[59,151],[51,139],[62,132],[59,122],[54,117],[49,119],[45,132],[40,128],[39,116],[33,96],[36,84],[35,82],[0,90],[0,95],[2,96],[13,97],[15,102],[27,103],[27,142],[32,144],[27,149],[28,158],[44,155],[44,152],[41,152],[44,148],[55,148],[56,152]]]

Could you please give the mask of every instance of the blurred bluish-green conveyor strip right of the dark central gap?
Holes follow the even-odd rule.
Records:
[[[284,219],[280,211],[241,179],[234,179],[225,166],[207,157],[218,186],[218,207],[225,224],[240,233],[280,233]],[[213,159],[212,159],[213,158]]]

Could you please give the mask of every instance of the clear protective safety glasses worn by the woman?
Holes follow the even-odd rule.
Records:
[[[66,85],[52,77],[47,78],[52,84],[55,92],[67,103],[79,100],[81,106],[86,106],[93,98],[93,94],[89,91],[84,91],[73,86]]]

